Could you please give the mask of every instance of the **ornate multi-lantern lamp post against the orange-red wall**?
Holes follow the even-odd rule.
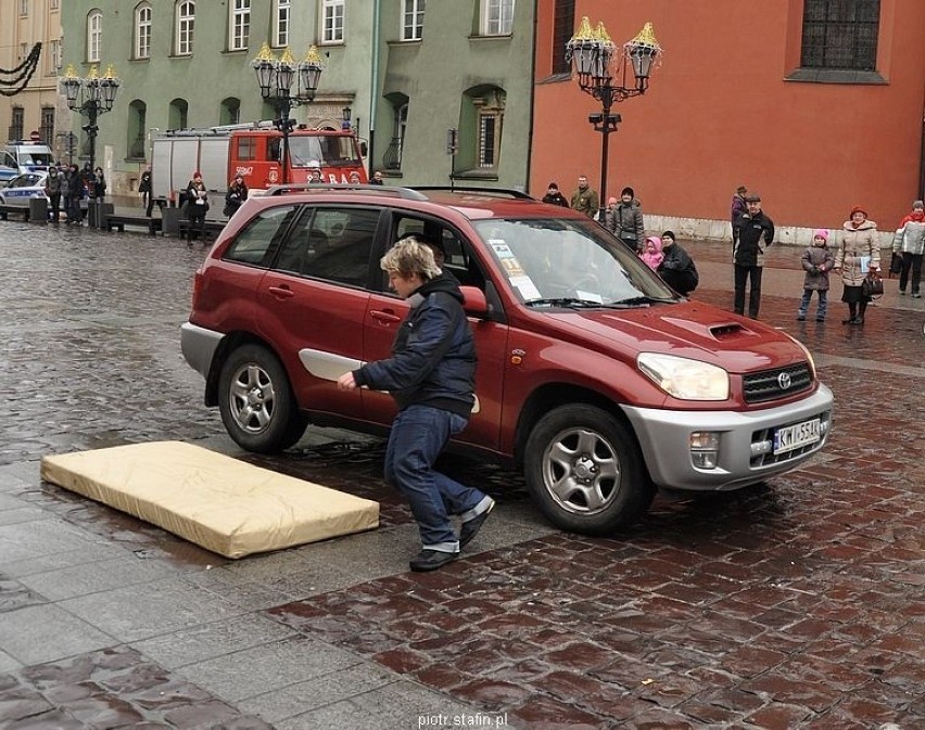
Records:
[[[662,49],[652,31],[652,24],[646,23],[638,35],[623,44],[623,52],[617,57],[617,67],[611,75],[611,64],[617,47],[607,35],[604,23],[592,30],[587,16],[581,18],[578,33],[566,43],[566,60],[572,62],[581,90],[600,102],[600,113],[590,114],[587,120],[594,125],[594,131],[601,133],[600,149],[600,207],[598,219],[604,222],[607,206],[607,156],[609,154],[610,132],[617,131],[622,120],[619,114],[610,110],[617,102],[644,94],[649,87],[649,74]],[[626,62],[633,66],[635,77],[632,86],[626,85]],[[614,77],[620,84],[616,85]]]

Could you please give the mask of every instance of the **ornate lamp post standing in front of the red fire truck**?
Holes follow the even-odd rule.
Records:
[[[321,79],[321,56],[315,46],[308,49],[305,59],[295,63],[289,49],[286,48],[277,59],[267,43],[261,47],[261,52],[253,62],[257,74],[257,85],[261,97],[270,102],[276,110],[277,118],[274,126],[282,132],[282,182],[289,182],[289,135],[292,131],[293,119],[289,112],[303,102],[315,99],[318,81]],[[292,85],[295,84],[295,93]]]

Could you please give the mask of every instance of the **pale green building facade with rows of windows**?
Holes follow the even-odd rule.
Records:
[[[63,68],[112,65],[121,81],[97,138],[115,193],[137,189],[152,136],[276,116],[251,66],[264,42],[295,62],[317,46],[318,90],[291,116],[337,129],[349,107],[388,182],[524,188],[534,12],[534,0],[68,0]],[[86,159],[86,118],[71,123]]]

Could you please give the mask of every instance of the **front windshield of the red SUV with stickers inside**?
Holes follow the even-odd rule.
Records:
[[[533,307],[634,307],[677,296],[592,220],[473,222],[521,302]]]

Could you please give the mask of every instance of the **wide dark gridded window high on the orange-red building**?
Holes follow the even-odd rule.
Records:
[[[800,65],[875,71],[879,0],[806,0]]]

